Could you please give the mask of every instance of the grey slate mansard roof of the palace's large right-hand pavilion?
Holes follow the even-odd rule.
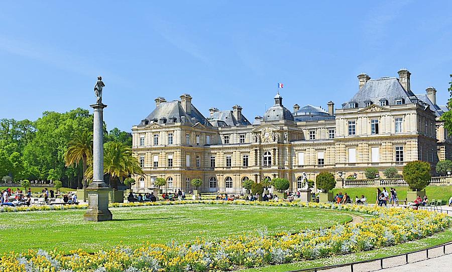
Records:
[[[365,102],[372,101],[377,104],[379,101],[387,100],[389,105],[395,105],[396,99],[404,99],[406,104],[415,103],[416,99],[411,91],[406,91],[397,78],[384,77],[371,79],[355,94],[350,100],[358,103],[357,108],[365,107]],[[343,108],[349,108],[349,102],[343,104]]]

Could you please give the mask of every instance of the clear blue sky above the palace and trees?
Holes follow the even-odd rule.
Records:
[[[357,75],[412,73],[414,93],[448,99],[450,1],[3,1],[0,118],[32,119],[95,102],[101,75],[108,129],[130,131],[154,99],[182,93],[204,116],[241,105],[340,106]]]

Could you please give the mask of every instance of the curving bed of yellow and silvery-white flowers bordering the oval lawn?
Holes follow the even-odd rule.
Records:
[[[362,205],[335,205],[302,202],[175,201],[155,203],[115,203],[110,206],[172,205],[182,203],[239,204],[312,207],[345,210],[374,215],[357,224],[329,229],[302,230],[277,236],[233,235],[227,238],[178,244],[143,243],[135,248],[117,248],[95,253],[29,250],[2,256],[3,272],[157,272],[233,270],[314,259],[365,251],[419,239],[450,225],[445,214],[401,208]],[[227,227],[227,226],[225,226]]]

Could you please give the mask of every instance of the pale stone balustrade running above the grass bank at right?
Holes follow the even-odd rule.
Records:
[[[431,177],[430,185],[452,185],[452,177]],[[403,178],[338,179],[336,188],[407,186]]]

